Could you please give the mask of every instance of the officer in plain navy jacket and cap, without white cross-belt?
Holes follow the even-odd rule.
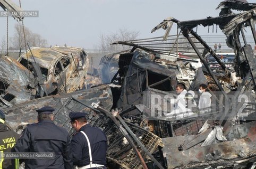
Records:
[[[73,168],[70,137],[64,128],[53,123],[54,110],[49,106],[36,110],[38,123],[28,125],[14,147],[15,152],[51,152],[54,158],[25,159],[25,169]]]

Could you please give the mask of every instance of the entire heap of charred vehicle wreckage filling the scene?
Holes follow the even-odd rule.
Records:
[[[21,55],[18,63],[2,58],[5,59],[0,62],[2,67],[15,62],[13,72],[24,70],[22,76],[13,73],[23,81],[19,83],[21,88],[27,90],[29,86],[40,96],[4,108],[6,124],[20,133],[26,124],[37,122],[36,109],[52,106],[56,109],[54,122],[73,135],[69,112],[86,111],[89,123],[107,135],[109,168],[255,168],[256,58],[243,29],[250,28],[256,43],[256,4],[224,1],[218,8],[221,9],[218,17],[202,20],[182,22],[168,17],[152,30],[166,30],[158,44],[157,40],[146,44],[149,39],[113,43],[132,46],[132,49],[105,55],[99,64],[104,85],[88,90],[52,95],[56,89],[70,89],[68,80],[63,81],[72,77],[65,71],[69,66],[72,73],[80,74],[80,69],[86,69],[83,65],[88,61],[83,52],[85,58],[81,57],[81,52],[73,56],[71,49],[56,46],[31,48]],[[242,12],[234,14],[231,10]],[[180,33],[168,35],[174,23]],[[227,45],[235,53],[231,69],[227,69],[216,52],[193,30],[199,25],[218,25],[224,32]],[[186,48],[183,44],[187,43],[197,59],[182,57],[178,52],[174,54],[174,50]],[[56,59],[41,61],[40,56],[44,53]],[[209,67],[207,53],[216,59],[223,71],[217,73],[215,68]],[[32,69],[36,63],[41,74]],[[240,80],[234,80],[234,74]],[[11,80],[2,83],[4,92],[8,92],[7,87],[15,86]],[[200,97],[199,85],[208,85],[211,107],[200,109],[196,106],[173,113],[179,83],[192,91],[196,105]]]

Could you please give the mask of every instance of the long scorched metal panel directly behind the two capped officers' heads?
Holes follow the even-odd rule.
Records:
[[[56,115],[57,112],[67,104],[67,100],[71,97],[78,99],[88,106],[90,106],[92,102],[101,101],[107,110],[110,110],[113,105],[110,87],[102,85],[89,90],[80,90],[73,93],[47,96],[44,98],[30,100],[10,108],[4,108],[3,111],[6,115],[6,124],[15,131],[21,123],[37,123],[36,109],[43,106],[52,106],[55,108],[54,112]],[[69,112],[70,111],[65,111],[64,113],[68,115]]]

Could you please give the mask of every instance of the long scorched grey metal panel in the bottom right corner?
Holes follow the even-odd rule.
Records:
[[[243,156],[244,158],[250,157],[253,154],[255,156],[255,148],[255,136],[248,139],[209,145],[207,147],[191,148],[187,151],[167,154],[167,165],[168,168],[175,168],[179,166],[186,166],[191,163],[207,164],[209,161],[207,161],[205,156],[209,153],[214,153],[214,151],[220,152],[221,159],[228,162],[231,159],[243,159],[240,156]],[[218,161],[215,161],[215,163],[218,163]]]

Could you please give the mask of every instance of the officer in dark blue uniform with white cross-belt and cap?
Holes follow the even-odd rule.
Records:
[[[78,169],[106,168],[107,137],[87,122],[87,112],[70,112],[76,130],[71,140],[73,165]]]

